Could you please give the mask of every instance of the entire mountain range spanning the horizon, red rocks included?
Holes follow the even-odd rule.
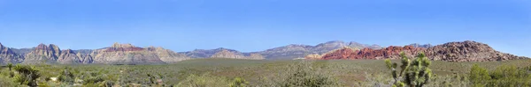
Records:
[[[135,47],[131,44],[114,43],[99,49],[60,49],[54,44],[39,44],[32,48],[4,47],[0,43],[0,64],[6,63],[60,63],[60,64],[162,64],[196,58],[235,58],[250,60],[292,60],[295,58],[334,59],[396,59],[404,52],[413,56],[426,53],[432,60],[448,62],[489,62],[527,57],[504,54],[487,44],[475,41],[449,42],[443,45],[411,44],[404,47],[367,45],[358,42],[333,40],[316,46],[291,44],[264,51],[242,53],[234,49],[196,49],[173,52],[163,47]]]

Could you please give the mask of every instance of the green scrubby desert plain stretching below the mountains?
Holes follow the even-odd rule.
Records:
[[[433,74],[427,77],[429,72]],[[426,87],[525,87],[531,86],[530,73],[531,60],[430,62],[422,55],[389,61],[199,59],[164,65],[5,65],[0,68],[0,86],[390,87],[401,82]]]

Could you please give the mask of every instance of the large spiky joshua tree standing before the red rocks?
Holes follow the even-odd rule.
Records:
[[[389,59],[385,60],[387,67],[391,69],[391,74],[395,80],[394,87],[422,87],[428,83],[432,76],[431,69],[427,68],[431,62],[427,59],[424,53],[419,53],[417,58],[411,60],[404,54],[400,53],[402,57],[402,65],[400,65],[400,72],[396,71],[398,64],[391,62]]]

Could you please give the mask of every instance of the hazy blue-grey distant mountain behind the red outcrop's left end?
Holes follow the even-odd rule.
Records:
[[[318,44],[316,46],[308,45],[288,45],[285,47],[275,47],[272,49],[267,49],[266,51],[255,52],[257,54],[262,54],[266,59],[294,59],[294,58],[304,58],[308,54],[325,54],[329,51],[335,50],[341,47],[352,47],[352,48],[373,48],[380,49],[378,45],[366,45],[360,44],[358,42],[349,42],[345,43],[342,40],[333,40],[325,43]]]

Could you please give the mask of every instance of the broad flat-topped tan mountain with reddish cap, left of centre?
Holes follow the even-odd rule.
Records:
[[[94,63],[111,64],[157,64],[189,59],[183,54],[176,54],[163,48],[142,48],[119,43],[115,43],[112,47],[97,49],[90,55]]]

